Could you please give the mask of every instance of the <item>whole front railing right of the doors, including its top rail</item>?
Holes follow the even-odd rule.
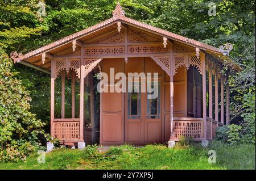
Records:
[[[192,138],[192,140],[203,140],[204,121],[203,118],[174,117],[174,128],[171,140],[179,141],[180,137]]]

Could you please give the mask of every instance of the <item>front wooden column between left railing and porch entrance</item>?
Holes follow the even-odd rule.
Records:
[[[84,55],[84,47],[82,47],[81,55]],[[84,141],[84,59],[81,59],[80,69],[80,136],[79,140]]]

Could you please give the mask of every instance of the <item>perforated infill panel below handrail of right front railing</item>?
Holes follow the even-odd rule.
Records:
[[[174,138],[202,138],[203,123],[201,121],[174,121]]]

